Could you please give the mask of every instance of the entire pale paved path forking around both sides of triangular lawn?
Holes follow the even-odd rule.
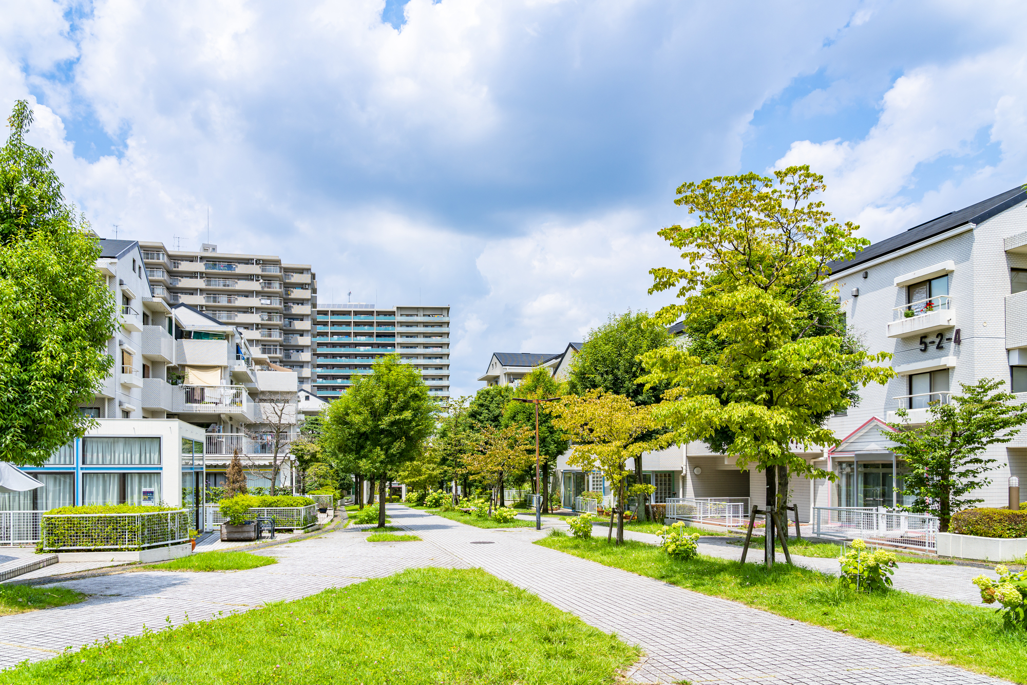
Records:
[[[0,667],[48,658],[105,636],[138,635],[144,623],[164,625],[165,617],[181,624],[186,612],[193,620],[207,618],[406,568],[440,566],[481,567],[640,645],[646,657],[630,674],[639,682],[1004,682],[532,544],[545,531],[482,530],[400,505],[389,506],[389,516],[423,541],[370,543],[364,531],[347,528],[259,550],[278,563],[249,571],[137,571],[60,583],[92,597],[70,607],[0,617]],[[711,547],[735,551],[717,543]]]

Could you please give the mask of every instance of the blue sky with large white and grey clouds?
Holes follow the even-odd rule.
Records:
[[[653,310],[685,181],[809,163],[879,239],[1027,178],[1022,3],[10,3],[102,235],[311,263],[319,299],[453,307],[453,381]],[[767,5],[767,6],[764,6]]]

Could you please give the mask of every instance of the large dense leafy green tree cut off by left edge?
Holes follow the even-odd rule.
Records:
[[[28,145],[17,101],[0,148],[0,460],[39,466],[96,425],[78,411],[113,359],[114,297],[96,270],[101,249],[64,202],[53,154]]]

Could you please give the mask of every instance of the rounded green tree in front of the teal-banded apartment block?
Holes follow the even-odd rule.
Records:
[[[373,475],[378,482],[378,527],[385,526],[385,485],[418,458],[434,429],[438,404],[421,375],[390,354],[327,411],[322,445],[338,470]]]

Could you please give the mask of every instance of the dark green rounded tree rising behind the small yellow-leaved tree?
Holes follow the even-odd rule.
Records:
[[[587,390],[602,389],[627,397],[636,405],[653,405],[660,401],[669,384],[646,384],[643,355],[654,349],[667,347],[673,337],[665,326],[656,322],[648,312],[627,312],[611,314],[609,320],[589,331],[581,350],[571,360],[567,384],[573,394],[582,395]],[[654,426],[653,432],[639,435],[641,442],[649,442],[664,432]],[[635,461],[635,481],[642,483],[645,455],[639,454]],[[648,494],[645,489],[638,492],[639,516],[648,520]]]

